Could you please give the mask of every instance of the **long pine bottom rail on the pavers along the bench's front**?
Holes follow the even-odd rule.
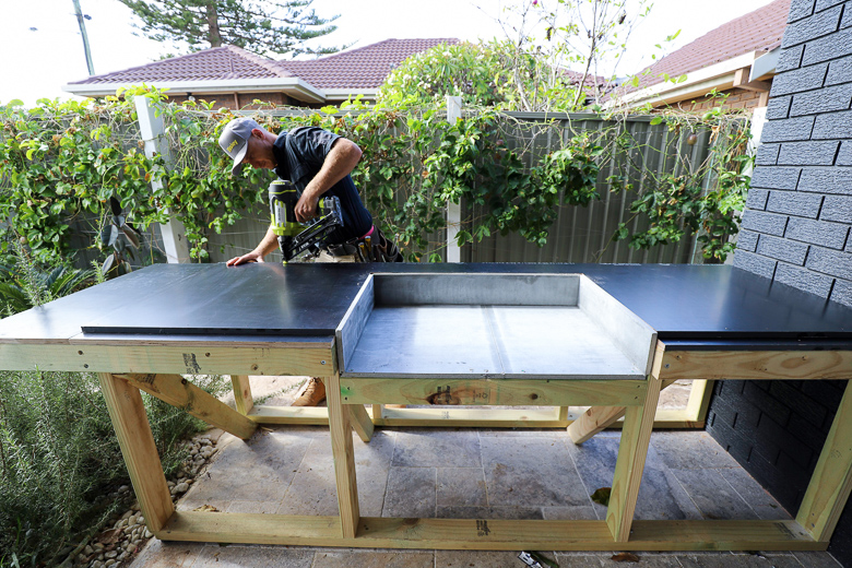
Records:
[[[338,517],[176,512],[163,541],[469,551],[825,551],[795,521],[635,521],[616,542],[606,521],[362,517],[356,537]]]

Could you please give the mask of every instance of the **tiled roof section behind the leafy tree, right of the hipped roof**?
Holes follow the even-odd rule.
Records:
[[[458,44],[455,38],[386,39],[359,49],[311,61],[276,61],[319,88],[378,88],[388,74],[409,57],[440,44]]]

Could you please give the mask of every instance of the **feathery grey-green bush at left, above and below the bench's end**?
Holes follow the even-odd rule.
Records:
[[[0,317],[85,285],[80,276],[85,273],[37,265],[23,247],[16,248],[14,267],[0,270],[0,291],[8,293],[0,294],[5,298]],[[214,395],[225,387],[218,376],[193,382]],[[205,425],[147,394],[143,400],[170,474],[187,457],[176,442]],[[62,560],[127,505],[115,494],[126,484],[97,375],[0,371],[0,567]]]

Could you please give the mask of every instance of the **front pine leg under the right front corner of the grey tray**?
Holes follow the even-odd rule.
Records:
[[[648,445],[654,425],[654,413],[660,400],[661,380],[648,377],[648,392],[643,406],[627,409],[618,445],[618,460],[615,464],[613,487],[610,494],[610,507],[606,511],[606,524],[616,542],[627,542],[630,524],[636,511],[636,498],[642,482]]]

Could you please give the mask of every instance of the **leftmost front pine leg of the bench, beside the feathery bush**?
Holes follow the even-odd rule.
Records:
[[[159,531],[171,517],[175,506],[171,505],[142,395],[139,389],[109,372],[98,372],[98,378],[142,514],[152,532]]]

